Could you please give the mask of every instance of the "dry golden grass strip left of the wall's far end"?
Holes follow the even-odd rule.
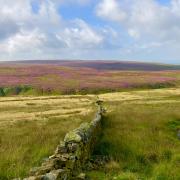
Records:
[[[86,115],[92,111],[92,99],[76,96],[8,97],[0,99],[0,125],[22,120],[44,121],[50,116],[69,117]]]

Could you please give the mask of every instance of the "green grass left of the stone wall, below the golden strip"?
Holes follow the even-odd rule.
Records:
[[[89,117],[90,118],[90,117]],[[68,130],[83,117],[54,118],[44,123],[22,121],[0,131],[0,179],[24,177],[31,167],[51,155]]]

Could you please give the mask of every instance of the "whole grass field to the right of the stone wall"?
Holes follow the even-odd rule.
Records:
[[[180,179],[180,89],[100,95],[107,114],[95,155],[111,160],[96,180]]]

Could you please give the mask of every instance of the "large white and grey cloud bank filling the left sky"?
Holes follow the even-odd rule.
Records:
[[[99,48],[104,41],[103,35],[85,21],[64,21],[58,12],[62,0],[39,1],[36,12],[31,6],[34,0],[11,2],[0,0],[0,58],[53,58],[54,54],[61,58],[66,49],[80,54],[79,49]],[[84,5],[89,1],[76,2]]]

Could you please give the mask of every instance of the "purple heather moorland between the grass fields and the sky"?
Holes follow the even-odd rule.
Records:
[[[83,94],[180,84],[178,66],[117,63],[2,63],[0,95]],[[107,68],[109,67],[109,68]],[[153,70],[154,69],[154,70]]]

